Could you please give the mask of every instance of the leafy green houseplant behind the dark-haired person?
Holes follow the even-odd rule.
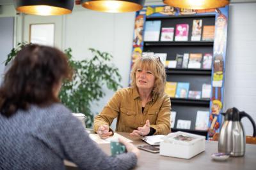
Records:
[[[28,43],[19,43],[8,54],[5,66],[12,61]],[[121,76],[118,68],[109,64],[113,56],[108,52],[100,52],[93,48],[89,48],[92,52],[91,59],[74,60],[72,58],[72,50],[68,48],[65,53],[68,62],[74,70],[72,81],[64,80],[59,94],[61,103],[65,104],[72,112],[84,113],[86,115],[86,127],[92,127],[93,113],[91,111],[92,101],[99,101],[105,94],[102,86],[106,85],[110,90],[117,90],[121,87]]]

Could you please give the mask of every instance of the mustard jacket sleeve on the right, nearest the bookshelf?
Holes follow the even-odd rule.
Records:
[[[171,101],[167,95],[163,96],[163,104],[159,110],[156,125],[150,125],[150,127],[156,129],[154,134],[169,134],[170,131],[170,113],[171,113]]]

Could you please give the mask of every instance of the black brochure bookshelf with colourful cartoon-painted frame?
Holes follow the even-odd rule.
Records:
[[[216,117],[216,122],[213,122],[213,120],[209,119],[209,123],[207,124],[207,127],[211,127],[212,124],[219,124],[221,122],[221,106],[223,102],[223,80],[224,80],[224,71],[225,71],[225,55],[226,55],[226,45],[227,45],[227,23],[225,24],[225,27],[222,27],[220,22],[221,19],[227,22],[228,18],[228,6],[225,6],[223,8],[217,8],[217,9],[211,9],[211,10],[191,10],[191,13],[188,13],[188,15],[180,14],[179,8],[173,8],[173,11],[175,11],[172,15],[166,15],[164,14],[164,6],[156,5],[156,6],[145,6],[143,10],[138,11],[136,13],[136,18],[140,16],[143,16],[144,19],[144,25],[140,29],[143,29],[142,35],[144,35],[145,38],[145,32],[147,32],[147,27],[145,24],[150,23],[154,25],[154,22],[157,22],[157,27],[154,27],[155,32],[154,35],[151,34],[152,32],[147,32],[148,35],[154,36],[153,38],[145,38],[145,39],[158,39],[158,41],[141,41],[140,44],[138,43],[136,45],[133,44],[132,46],[132,61],[136,57],[140,57],[142,52],[154,52],[154,53],[166,53],[167,57],[166,60],[177,60],[177,54],[190,54],[193,53],[202,53],[202,58],[205,54],[212,54],[212,67],[209,67],[207,69],[202,67],[202,62],[200,63],[201,66],[196,67],[166,67],[166,81],[169,82],[177,82],[177,86],[179,86],[179,83],[186,82],[189,83],[189,90],[193,91],[201,91],[202,93],[202,85],[212,85],[210,91],[211,94],[209,95],[209,98],[202,98],[194,99],[184,97],[184,98],[177,98],[176,97],[170,97],[171,103],[172,103],[172,111],[176,111],[176,117],[174,122],[174,127],[172,128],[172,132],[176,131],[184,131],[184,132],[191,132],[194,134],[200,134],[209,138],[212,138],[213,134],[215,132],[218,132],[220,130],[220,126],[217,127],[214,125],[214,129],[206,128],[204,130],[198,130],[195,129],[196,126],[196,115],[198,111],[209,111],[209,115],[213,115],[212,117]],[[195,36],[192,34],[192,30],[195,27],[194,22],[201,22],[201,33],[200,33],[200,39],[193,39],[192,36]],[[161,27],[159,27],[159,22],[161,22]],[[198,23],[199,23],[198,22]],[[198,24],[200,25],[200,24]],[[208,29],[209,27],[214,27],[214,32],[212,32],[212,35],[214,38],[211,39],[211,34],[207,34],[209,32],[204,32],[204,29]],[[178,39],[175,38],[177,36],[177,29],[182,27],[184,30],[188,30],[186,32],[186,39],[187,41],[177,41]],[[185,28],[184,28],[185,27]],[[166,32],[173,32],[173,39],[170,38],[170,40],[164,39],[161,41],[161,36],[164,34],[164,36],[168,33],[163,32],[163,28],[166,29]],[[210,29],[211,29],[210,28]],[[172,30],[174,29],[174,31]],[[136,30],[136,27],[134,29],[134,32]],[[179,30],[179,29],[178,29]],[[156,31],[158,31],[158,34],[156,36]],[[210,30],[211,31],[211,30]],[[179,31],[178,31],[179,32]],[[170,35],[170,33],[168,34]],[[159,38],[156,38],[158,37]],[[204,38],[203,38],[204,36]],[[172,37],[172,36],[171,36]],[[143,39],[144,39],[143,38]],[[134,34],[135,39],[135,34]],[[179,38],[182,40],[182,38]],[[196,41],[193,41],[196,40]],[[140,50],[138,50],[140,48]],[[134,52],[137,52],[136,57],[134,57]],[[139,52],[139,54],[138,54]],[[194,55],[195,56],[195,55]],[[218,60],[218,62],[223,63],[221,65],[221,71],[219,69],[216,69],[216,59],[217,56],[221,56],[221,60]],[[192,57],[191,57],[192,58]],[[203,59],[202,59],[203,60]],[[178,60],[177,60],[178,62]],[[189,61],[190,62],[190,61]],[[220,67],[217,67],[220,68]],[[220,72],[218,72],[220,71]],[[221,76],[218,76],[217,73],[221,73]],[[178,89],[178,88],[177,88]],[[177,94],[176,89],[176,94]],[[186,89],[187,90],[187,89]],[[187,90],[188,91],[188,90]],[[178,96],[180,97],[180,96]],[[217,101],[217,102],[216,102]],[[218,102],[220,101],[220,102]],[[220,106],[219,110],[216,112],[215,110],[212,110],[212,107],[216,106],[216,103],[218,106]],[[220,104],[221,103],[221,104]],[[215,105],[214,105],[215,104]],[[189,129],[180,129],[177,127],[177,121],[178,120],[187,120],[191,121],[191,125]]]

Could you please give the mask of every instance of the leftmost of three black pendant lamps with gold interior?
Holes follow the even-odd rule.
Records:
[[[17,11],[33,15],[64,15],[71,13],[74,0],[14,0]]]

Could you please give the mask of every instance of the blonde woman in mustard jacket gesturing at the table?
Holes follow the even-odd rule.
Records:
[[[118,90],[95,117],[93,130],[100,138],[109,138],[109,128],[117,118],[116,131],[132,136],[150,136],[170,132],[170,97],[164,94],[166,73],[155,55],[143,55],[131,71],[132,87]]]

